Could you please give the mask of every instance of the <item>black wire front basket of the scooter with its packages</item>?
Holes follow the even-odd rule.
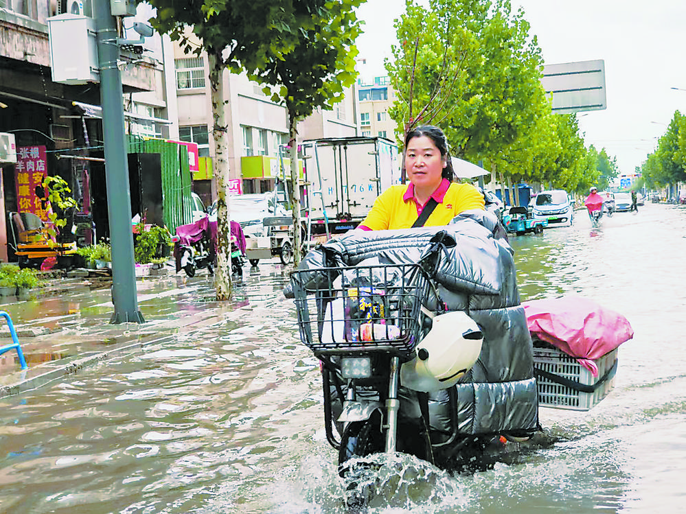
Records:
[[[290,279],[300,339],[316,355],[409,358],[420,340],[430,283],[417,264],[295,270]]]

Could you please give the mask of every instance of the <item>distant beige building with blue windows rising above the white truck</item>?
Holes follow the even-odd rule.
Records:
[[[396,122],[388,115],[388,109],[396,101],[387,76],[374,80],[358,80],[358,102],[360,103],[361,135],[386,137],[395,140]]]

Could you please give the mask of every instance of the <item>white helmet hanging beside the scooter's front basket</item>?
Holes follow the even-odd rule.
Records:
[[[465,312],[436,316],[417,357],[402,364],[400,383],[427,393],[453,387],[477,362],[482,341],[479,325]]]

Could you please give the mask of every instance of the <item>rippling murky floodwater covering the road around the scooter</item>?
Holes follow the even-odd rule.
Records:
[[[685,227],[686,208],[648,204],[512,237],[523,299],[579,294],[630,320],[615,388],[588,412],[542,408],[557,442],[513,443],[488,471],[385,458],[369,512],[686,512]],[[247,273],[215,325],[0,399],[0,511],[345,512],[285,281]]]

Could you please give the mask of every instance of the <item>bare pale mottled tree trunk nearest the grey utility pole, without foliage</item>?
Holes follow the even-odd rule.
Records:
[[[228,135],[224,112],[224,63],[221,49],[207,49],[209,87],[211,89],[212,139],[214,141],[214,180],[217,187],[217,267],[214,274],[216,299],[231,298],[231,223],[229,222]]]

